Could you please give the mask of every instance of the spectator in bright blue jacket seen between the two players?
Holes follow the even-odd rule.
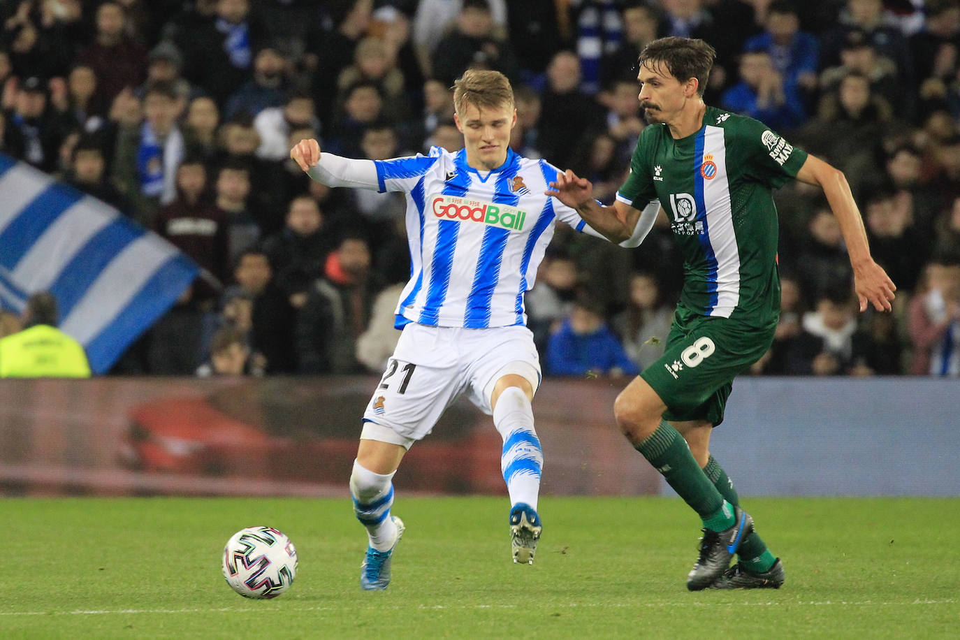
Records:
[[[584,296],[574,301],[560,330],[550,335],[546,366],[551,375],[636,375],[639,369],[604,321],[603,308]]]

